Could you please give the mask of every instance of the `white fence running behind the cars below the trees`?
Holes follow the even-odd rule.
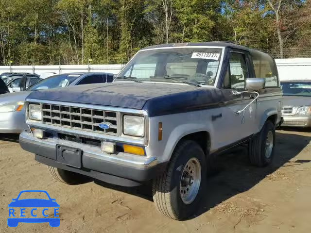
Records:
[[[12,66],[0,67],[3,72],[32,72],[42,74],[45,72],[109,72],[118,74],[124,65],[73,65],[73,66]],[[311,58],[276,59],[280,80],[311,80]]]

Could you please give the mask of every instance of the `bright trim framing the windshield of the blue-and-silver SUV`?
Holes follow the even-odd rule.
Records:
[[[123,70],[125,69],[125,67],[127,66],[127,64],[129,64],[137,55],[139,52],[143,52],[143,51],[149,51],[149,50],[164,50],[164,49],[185,49],[185,48],[204,48],[204,49],[221,49],[222,50],[222,54],[221,54],[221,59],[219,61],[219,67],[218,67],[218,71],[217,72],[217,76],[214,82],[214,85],[201,85],[202,87],[217,87],[217,83],[219,80],[219,76],[221,73],[221,70],[223,68],[223,61],[224,61],[224,55],[225,55],[225,47],[224,46],[176,46],[176,47],[160,47],[160,48],[152,48],[152,49],[142,49],[139,50],[125,65],[124,67],[121,68],[120,72],[116,75],[116,77],[114,78],[114,80],[112,82],[115,82],[117,77],[119,77],[119,75],[123,72]],[[131,81],[129,81],[131,82]],[[146,81],[143,81],[143,83],[145,83]],[[153,82],[153,83],[157,83],[157,82]],[[172,83],[172,84],[176,84],[176,83]]]

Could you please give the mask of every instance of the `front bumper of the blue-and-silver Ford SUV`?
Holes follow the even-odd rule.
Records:
[[[62,139],[38,139],[32,133],[19,135],[22,149],[35,153],[35,160],[57,168],[80,173],[95,179],[122,185],[137,186],[163,173],[167,163],[158,163],[155,157],[137,156],[119,152],[108,154],[100,148]],[[56,145],[82,150],[82,167],[75,168],[56,161]]]

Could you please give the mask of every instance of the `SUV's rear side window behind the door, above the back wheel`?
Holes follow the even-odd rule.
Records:
[[[266,87],[277,87],[277,72],[273,58],[261,52],[252,52],[256,78],[265,78]]]

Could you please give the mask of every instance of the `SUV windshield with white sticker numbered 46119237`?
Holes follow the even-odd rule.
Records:
[[[116,81],[214,85],[221,54],[222,49],[212,47],[142,50],[124,67]]]

